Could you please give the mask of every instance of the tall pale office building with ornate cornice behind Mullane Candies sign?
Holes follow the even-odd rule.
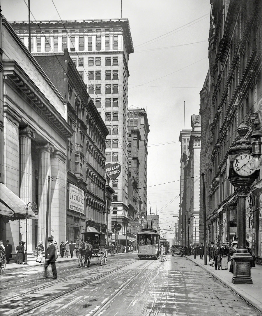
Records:
[[[11,24],[28,47],[28,22]],[[122,167],[110,185],[115,190],[112,207],[117,210],[118,223],[122,225],[120,235],[125,234],[128,222],[128,61],[134,52],[129,21],[31,22],[33,55],[59,55],[64,48],[69,50],[88,94],[107,125],[106,163],[118,162]],[[115,219],[116,214],[112,214],[112,224]]]

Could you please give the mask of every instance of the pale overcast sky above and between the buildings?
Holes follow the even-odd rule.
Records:
[[[25,1],[2,0],[2,14],[9,21],[28,21]],[[121,18],[121,0],[31,0],[31,20],[60,20],[53,3],[63,20]],[[191,115],[199,112],[199,92],[208,71],[210,3],[122,0],[122,17],[129,19],[134,45],[129,106],[145,108],[150,125],[148,220],[151,208],[171,239],[177,222],[173,215],[179,211],[179,134],[191,129]]]

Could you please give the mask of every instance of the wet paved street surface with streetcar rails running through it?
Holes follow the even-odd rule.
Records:
[[[58,279],[43,279],[43,265],[0,276],[1,315],[262,315],[194,262],[139,260],[136,253],[57,264]]]

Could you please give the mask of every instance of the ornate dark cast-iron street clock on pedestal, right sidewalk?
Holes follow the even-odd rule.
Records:
[[[227,177],[235,187],[237,191],[237,235],[238,235],[238,248],[235,254],[231,257],[233,259],[233,277],[232,283],[234,284],[252,284],[251,278],[251,262],[253,257],[248,253],[246,247],[246,198],[247,191],[253,184],[254,180],[259,175],[259,170],[252,171],[245,175],[245,172],[238,172],[238,169],[234,169],[233,163],[240,162],[240,170],[246,162],[241,162],[241,154],[250,154],[252,152],[252,146],[248,139],[244,136],[249,131],[249,128],[245,124],[239,125],[237,132],[241,136],[233,147],[228,150],[229,158],[227,163]],[[244,156],[243,156],[244,157]],[[235,160],[236,159],[236,160]],[[239,161],[240,160],[240,161]],[[243,164],[244,163],[244,164]]]

